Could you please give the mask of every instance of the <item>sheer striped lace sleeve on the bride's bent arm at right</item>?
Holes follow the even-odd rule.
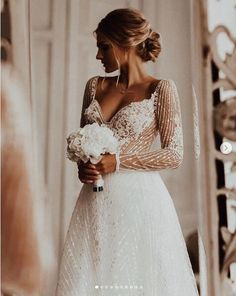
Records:
[[[121,154],[120,169],[161,170],[177,168],[183,159],[183,133],[179,96],[175,83],[165,80],[156,102],[156,123],[161,149]]]

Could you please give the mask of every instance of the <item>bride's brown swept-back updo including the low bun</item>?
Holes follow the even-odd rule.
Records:
[[[119,47],[136,46],[143,61],[155,61],[161,51],[160,35],[151,29],[144,15],[136,9],[116,9],[108,13],[94,33],[103,34]]]

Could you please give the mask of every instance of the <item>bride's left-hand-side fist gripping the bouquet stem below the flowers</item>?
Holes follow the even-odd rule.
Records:
[[[100,173],[96,169],[94,164],[90,162],[83,163],[82,161],[78,165],[78,177],[82,183],[93,184],[94,181],[99,179]]]

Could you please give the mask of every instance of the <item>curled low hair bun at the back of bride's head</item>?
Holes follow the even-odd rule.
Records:
[[[155,62],[161,52],[160,39],[160,34],[152,31],[149,37],[138,45],[138,52],[143,61]]]

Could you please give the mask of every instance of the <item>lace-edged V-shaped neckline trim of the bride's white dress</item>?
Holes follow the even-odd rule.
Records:
[[[154,97],[158,94],[158,90],[159,90],[160,84],[161,84],[161,82],[163,81],[163,79],[160,79],[160,80],[159,80],[159,82],[157,83],[157,85],[156,85],[154,91],[150,94],[150,96],[149,96],[148,98],[146,98],[146,99],[142,99],[142,100],[140,100],[140,101],[132,101],[132,102],[130,102],[129,104],[127,104],[127,105],[121,107],[118,111],[116,111],[116,113],[115,113],[114,115],[111,116],[110,120],[105,120],[104,115],[103,115],[103,111],[102,111],[102,107],[101,107],[99,101],[96,99],[96,91],[97,91],[97,85],[98,85],[98,79],[99,79],[99,76],[96,76],[95,78],[96,78],[96,81],[95,81],[94,88],[93,88],[93,91],[92,91],[92,101],[95,102],[97,108],[99,109],[99,114],[100,114],[100,116],[101,116],[101,119],[102,119],[103,123],[105,123],[105,124],[110,124],[110,123],[113,121],[113,119],[114,119],[114,118],[115,118],[115,117],[116,117],[121,111],[123,111],[124,109],[126,109],[126,108],[132,106],[133,104],[143,103],[143,102],[145,102],[145,101],[149,101],[149,100],[151,100],[152,98],[154,98]]]

